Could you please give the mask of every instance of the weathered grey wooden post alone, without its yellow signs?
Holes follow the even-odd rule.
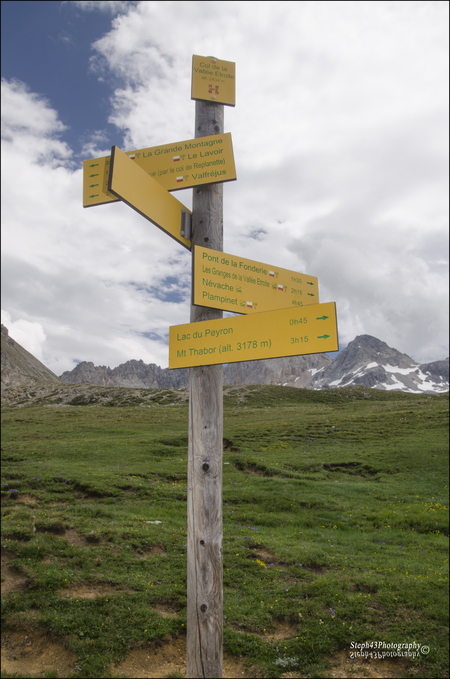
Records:
[[[195,104],[195,136],[223,134],[224,107]],[[200,156],[200,153],[198,153]],[[193,189],[192,247],[223,252],[223,184]],[[191,306],[191,323],[222,318]],[[223,367],[189,369],[187,677],[222,677]]]

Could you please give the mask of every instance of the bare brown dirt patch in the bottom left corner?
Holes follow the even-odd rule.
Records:
[[[18,676],[58,672],[67,677],[77,666],[77,656],[41,627],[25,624],[2,633],[2,670]]]

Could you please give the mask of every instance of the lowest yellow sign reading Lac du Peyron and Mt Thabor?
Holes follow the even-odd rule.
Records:
[[[338,350],[334,302],[169,328],[169,368]]]

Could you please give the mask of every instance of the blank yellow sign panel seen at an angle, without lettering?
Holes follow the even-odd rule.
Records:
[[[190,210],[117,146],[111,149],[108,190],[188,250],[191,249],[191,241],[180,235],[182,211],[191,214]]]

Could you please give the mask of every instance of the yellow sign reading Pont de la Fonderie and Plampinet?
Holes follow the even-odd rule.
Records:
[[[315,276],[195,246],[194,304],[253,314],[319,303]]]

